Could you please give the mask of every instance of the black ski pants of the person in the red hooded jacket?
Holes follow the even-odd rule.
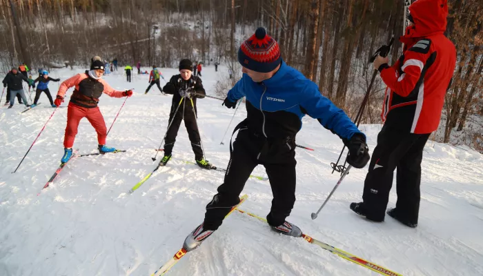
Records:
[[[366,217],[383,221],[396,173],[397,213],[417,224],[420,210],[422,152],[428,134],[414,134],[384,125],[377,135],[369,171],[364,181]]]

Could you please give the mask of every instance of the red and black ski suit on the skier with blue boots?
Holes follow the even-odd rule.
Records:
[[[61,83],[57,96],[63,97],[66,91],[75,86],[74,92],[70,97],[70,103],[67,110],[67,126],[66,134],[63,138],[63,146],[72,148],[74,145],[77,128],[82,118],[86,117],[90,124],[97,132],[97,141],[99,145],[106,144],[107,129],[101,110],[97,107],[99,97],[102,93],[110,97],[121,98],[126,96],[123,91],[114,90],[103,79],[93,79],[89,77],[87,72],[75,75],[70,79],[66,79]]]

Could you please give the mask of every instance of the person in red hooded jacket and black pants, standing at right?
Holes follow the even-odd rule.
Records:
[[[446,0],[418,0],[409,8],[411,24],[400,38],[404,52],[392,66],[377,57],[374,68],[391,90],[384,97],[382,119],[363,202],[351,209],[371,221],[384,221],[393,172],[397,168],[396,208],[388,215],[415,228],[420,210],[422,151],[440,124],[444,95],[456,63],[453,43],[444,37]]]

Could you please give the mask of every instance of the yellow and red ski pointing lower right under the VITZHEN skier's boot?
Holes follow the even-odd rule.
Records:
[[[255,219],[259,219],[261,221],[264,221],[264,222],[268,223],[268,221],[266,221],[266,219],[264,217],[260,217],[258,215],[253,214],[253,213],[249,213],[249,212],[246,212],[244,210],[240,210],[238,208],[236,208],[236,209],[237,209],[237,211],[239,213],[243,213],[243,214],[249,215],[250,217],[255,217]],[[377,264],[374,264],[372,262],[368,262],[365,259],[359,258],[359,257],[357,257],[355,255],[352,255],[351,253],[347,253],[344,250],[341,250],[339,248],[335,248],[334,246],[325,244],[324,242],[320,242],[317,239],[314,239],[313,237],[311,237],[309,235],[302,234],[302,237],[307,242],[309,242],[311,244],[315,244],[317,246],[320,246],[322,249],[328,250],[330,253],[333,253],[333,254],[335,254],[335,255],[337,255],[339,257],[342,257],[344,259],[347,259],[348,261],[351,261],[351,262],[353,262],[355,264],[359,264],[360,266],[364,266],[365,268],[371,269],[371,270],[373,270],[373,271],[375,271],[377,273],[380,273],[382,275],[387,275],[387,276],[402,276],[399,273],[395,273],[394,271],[388,270],[387,268],[384,268],[384,267],[379,266]]]

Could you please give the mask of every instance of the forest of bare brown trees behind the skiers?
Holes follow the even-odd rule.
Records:
[[[368,59],[402,35],[403,7],[404,0],[0,0],[0,66],[86,66],[101,55],[121,65],[175,67],[183,57],[236,69],[239,43],[264,26],[288,65],[355,117],[371,79]],[[456,135],[483,152],[483,3],[449,7],[457,68],[435,139]],[[391,61],[401,52],[396,39]],[[380,123],[383,93],[377,78],[363,123]]]

